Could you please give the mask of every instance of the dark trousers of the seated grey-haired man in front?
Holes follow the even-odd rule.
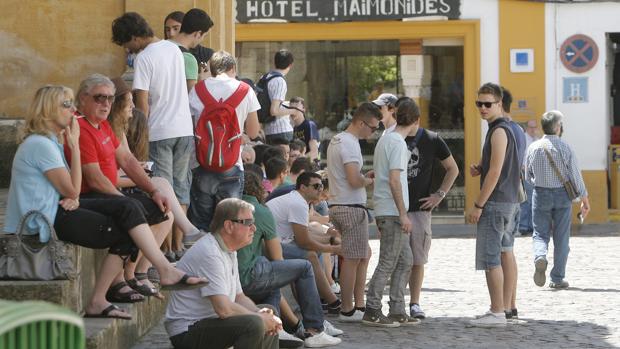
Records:
[[[187,332],[170,337],[174,349],[277,349],[278,336],[265,334],[257,315],[238,315],[227,319],[203,319]]]

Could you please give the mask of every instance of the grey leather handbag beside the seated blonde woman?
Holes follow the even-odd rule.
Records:
[[[24,235],[29,218],[40,217],[50,231],[47,243],[36,235]],[[76,272],[76,248],[58,240],[49,219],[41,212],[28,211],[15,234],[0,234],[0,279],[73,280]]]

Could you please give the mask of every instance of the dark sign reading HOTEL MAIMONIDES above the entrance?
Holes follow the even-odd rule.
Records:
[[[461,0],[237,0],[237,21],[381,21],[442,16],[458,19]]]

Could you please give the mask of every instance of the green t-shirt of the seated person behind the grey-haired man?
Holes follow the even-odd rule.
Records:
[[[254,221],[256,222],[252,243],[237,251],[241,285],[248,285],[252,282],[252,270],[256,260],[263,255],[262,240],[273,240],[278,237],[278,233],[276,233],[276,221],[267,206],[260,204],[255,197],[249,195],[243,195],[243,201],[254,205]]]

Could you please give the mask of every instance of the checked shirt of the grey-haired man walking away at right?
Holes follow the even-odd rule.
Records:
[[[545,147],[551,153],[551,158],[562,174],[563,180],[558,178],[547,155]],[[526,173],[525,179],[533,183],[536,187],[542,188],[561,188],[562,182],[571,179],[577,186],[580,197],[588,196],[586,185],[583,182],[577,157],[568,143],[558,136],[545,135],[543,138],[533,142],[527,149],[525,159]]]

